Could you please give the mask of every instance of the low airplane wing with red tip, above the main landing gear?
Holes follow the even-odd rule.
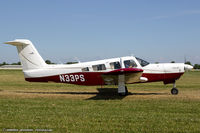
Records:
[[[125,83],[131,84],[141,81],[142,72],[139,68],[122,68],[104,73],[102,77],[105,84],[118,84],[119,75],[124,75]]]

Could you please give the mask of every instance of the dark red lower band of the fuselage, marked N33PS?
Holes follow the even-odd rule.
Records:
[[[80,72],[38,78],[25,78],[25,80],[29,82],[50,81],[77,85],[104,85],[105,83],[101,77],[102,74],[105,74],[105,72]],[[181,75],[183,75],[183,73],[143,73],[142,77],[146,77],[148,79],[147,82],[164,81],[164,83],[173,83],[175,80],[179,79]]]

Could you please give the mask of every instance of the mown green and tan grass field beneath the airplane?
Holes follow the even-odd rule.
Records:
[[[161,82],[127,87],[120,97],[117,86],[29,83],[20,70],[0,70],[0,132],[200,132],[200,72],[187,72],[176,96]]]

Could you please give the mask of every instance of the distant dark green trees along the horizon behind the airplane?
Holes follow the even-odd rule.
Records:
[[[56,63],[53,63],[51,62],[50,60],[46,60],[45,61],[47,64],[56,64]],[[66,62],[65,64],[76,64],[78,62]],[[171,63],[175,63],[175,61],[171,61]],[[188,65],[192,65],[190,61],[186,61],[185,64],[188,64]],[[0,66],[3,66],[3,65],[21,65],[21,62],[17,62],[17,63],[6,63],[6,62],[2,62],[0,63]],[[200,64],[194,64],[193,65],[194,69],[200,69]]]

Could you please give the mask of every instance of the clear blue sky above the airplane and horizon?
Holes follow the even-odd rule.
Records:
[[[57,63],[133,54],[200,64],[200,0],[1,0],[0,63],[19,61],[3,44],[17,38]]]

